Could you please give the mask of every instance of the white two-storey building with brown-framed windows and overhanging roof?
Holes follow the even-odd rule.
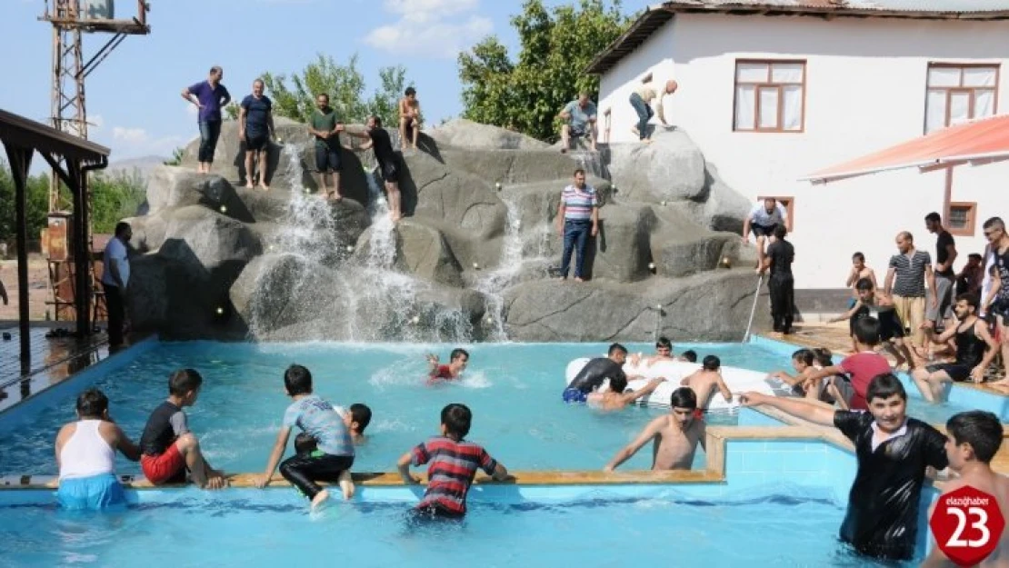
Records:
[[[599,138],[637,140],[630,94],[675,79],[665,115],[754,204],[781,198],[796,247],[796,288],[838,289],[865,253],[882,283],[911,231],[935,255],[923,218],[957,239],[959,269],[981,252],[985,219],[1009,218],[1009,162],[916,168],[826,185],[816,171],[1009,109],[1007,0],[691,0],[650,8],[600,53]],[[657,120],[654,120],[657,122]]]

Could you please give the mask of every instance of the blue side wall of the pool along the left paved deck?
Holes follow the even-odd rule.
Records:
[[[0,431],[12,429],[32,421],[40,413],[55,406],[73,401],[81,390],[94,385],[107,374],[131,365],[137,358],[155,349],[159,344],[156,337],[139,341],[128,349],[114,355],[109,355],[97,363],[85,367],[73,376],[32,393],[22,403],[18,403],[0,413]],[[15,383],[16,384],[16,383]]]

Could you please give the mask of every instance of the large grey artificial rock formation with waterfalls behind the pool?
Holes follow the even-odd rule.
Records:
[[[398,155],[407,217],[394,227],[380,182],[369,180],[370,151],[343,152],[346,199],[330,204],[315,195],[305,126],[276,123],[269,192],[242,187],[233,122],[213,174],[195,173],[194,142],[181,167],[150,175],[144,215],[127,220],[134,329],[286,341],[737,340],[745,332],[756,285],[755,252],[738,233],[748,204],[684,132],[563,154],[453,121]],[[583,283],[556,277],[555,215],[576,167],[603,203]]]

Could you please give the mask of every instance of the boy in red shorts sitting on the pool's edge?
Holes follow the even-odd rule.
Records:
[[[219,489],[228,484],[224,473],[212,468],[190,432],[183,409],[200,396],[203,376],[196,369],[179,369],[169,377],[169,399],[150,413],[140,435],[140,469],[154,485],[185,483],[189,470],[193,482]]]

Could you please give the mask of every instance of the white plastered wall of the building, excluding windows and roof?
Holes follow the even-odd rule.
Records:
[[[794,199],[797,288],[843,287],[856,250],[882,282],[899,231],[934,255],[923,217],[942,212],[945,174],[908,169],[818,186],[797,180],[922,135],[930,62],[1001,64],[996,108],[1009,112],[1007,56],[1009,22],[677,15],[601,78],[600,123],[604,129],[610,110],[609,141],[634,141],[627,102],[634,85],[648,72],[656,81],[675,78],[680,89],[666,99],[666,116],[720,177],[755,204],[766,195]],[[737,59],[806,61],[803,132],[733,130]],[[964,260],[984,247],[981,223],[1009,215],[1007,176],[1006,162],[955,169],[951,201],[979,204],[973,236],[957,237]]]

